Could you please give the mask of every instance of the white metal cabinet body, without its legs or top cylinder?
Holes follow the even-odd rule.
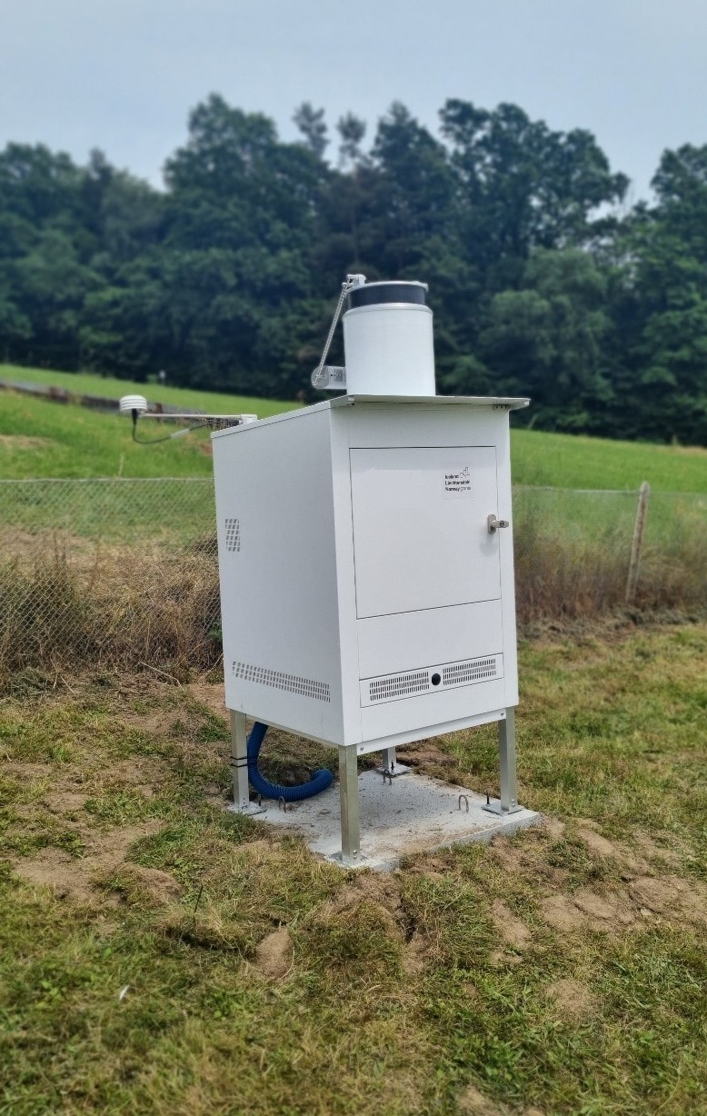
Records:
[[[512,404],[341,397],[214,434],[230,709],[371,751],[517,702],[511,529],[487,529]]]

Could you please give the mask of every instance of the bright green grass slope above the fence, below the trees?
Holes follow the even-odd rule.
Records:
[[[296,405],[10,365],[0,365],[0,378],[112,397],[147,393],[164,403],[260,417]],[[0,478],[205,477],[211,472],[207,451],[207,433],[151,449],[132,441],[125,417],[0,393]],[[648,480],[656,491],[707,492],[707,450],[516,430],[512,453],[516,484],[632,490]]]

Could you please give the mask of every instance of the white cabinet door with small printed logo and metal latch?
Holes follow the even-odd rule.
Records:
[[[351,450],[359,618],[501,596],[493,446]]]

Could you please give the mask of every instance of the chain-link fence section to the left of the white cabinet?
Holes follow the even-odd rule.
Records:
[[[219,654],[213,481],[0,481],[0,670]]]

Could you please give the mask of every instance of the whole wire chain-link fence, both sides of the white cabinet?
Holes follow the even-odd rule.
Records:
[[[513,500],[521,619],[626,605],[637,492]],[[651,494],[638,574],[637,607],[705,607],[707,496]],[[0,481],[0,670],[207,666],[219,651],[211,479]]]

